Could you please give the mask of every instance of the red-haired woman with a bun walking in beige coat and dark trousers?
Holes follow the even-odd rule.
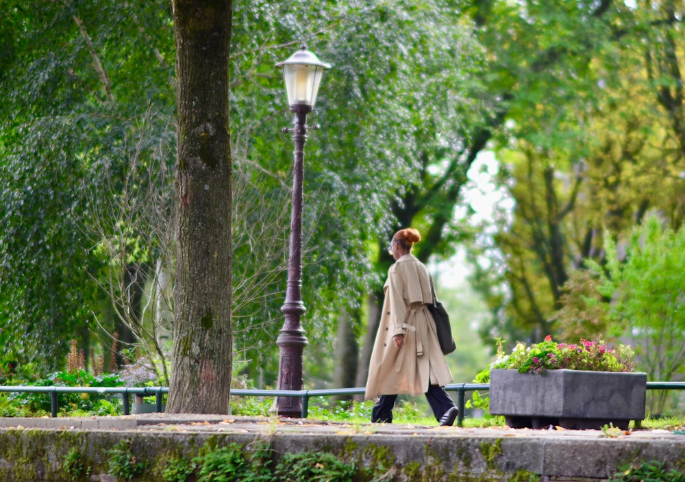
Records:
[[[388,248],[395,263],[383,287],[383,311],[364,396],[365,400],[379,396],[371,422],[393,422],[398,394],[425,394],[440,425],[453,424],[459,413],[443,388],[452,381],[452,374],[426,307],[433,302],[430,275],[412,255],[412,247],[420,240],[416,229],[401,229]]]

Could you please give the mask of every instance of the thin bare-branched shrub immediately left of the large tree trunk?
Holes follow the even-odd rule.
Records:
[[[149,114],[148,114],[149,115]],[[173,182],[167,160],[172,146],[162,144],[147,156],[146,142],[156,138],[155,126],[139,126],[143,134],[130,157],[121,160],[122,182],[105,174],[102,200],[90,218],[90,236],[98,259],[108,260],[92,280],[106,298],[91,314],[92,333],[103,346],[116,344],[107,366],[138,364],[158,383],[169,385],[167,357],[173,333]],[[105,190],[106,189],[106,190]],[[95,192],[92,193],[95,195]],[[117,320],[114,332],[108,318]],[[121,328],[127,337],[121,337]]]

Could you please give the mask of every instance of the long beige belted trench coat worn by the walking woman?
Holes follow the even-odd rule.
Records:
[[[371,352],[364,400],[378,395],[420,395],[428,384],[452,381],[445,355],[440,351],[435,322],[426,303],[432,303],[426,267],[408,254],[390,266],[383,287],[385,299],[380,325]],[[404,335],[395,348],[393,336]]]

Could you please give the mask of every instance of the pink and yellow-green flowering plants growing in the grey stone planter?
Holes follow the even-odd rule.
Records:
[[[515,368],[521,373],[542,373],[545,370],[584,370],[590,372],[632,372],[633,351],[620,345],[609,349],[602,340],[580,340],[577,344],[554,342],[550,335],[545,341],[525,346],[519,342],[509,355],[497,348],[497,359],[490,368]]]

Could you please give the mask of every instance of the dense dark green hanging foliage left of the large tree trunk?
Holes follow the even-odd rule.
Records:
[[[2,6],[0,323],[9,353],[54,368],[102,296],[92,218],[111,201],[103,193],[170,140],[169,6]]]

